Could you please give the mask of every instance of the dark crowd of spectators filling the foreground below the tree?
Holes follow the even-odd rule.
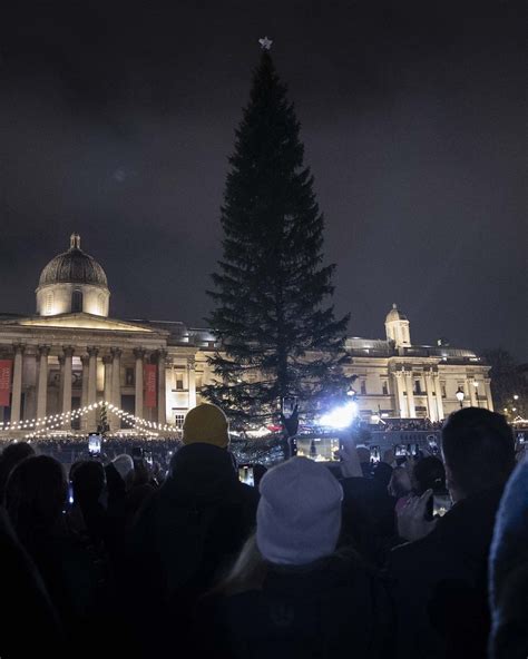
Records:
[[[375,465],[351,439],[253,486],[209,404],[167,469],[124,444],[67,473],[66,446],[9,443],[0,657],[526,659],[528,461],[483,409],[441,435]]]

